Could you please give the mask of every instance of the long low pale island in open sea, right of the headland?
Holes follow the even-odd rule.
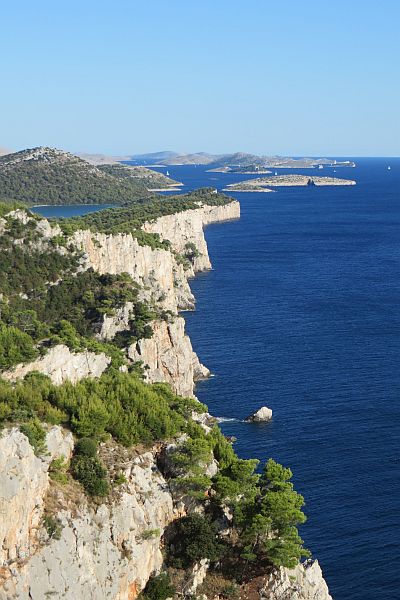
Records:
[[[271,187],[356,185],[352,179],[338,177],[309,177],[308,175],[274,175],[231,183],[225,192],[272,192]]]

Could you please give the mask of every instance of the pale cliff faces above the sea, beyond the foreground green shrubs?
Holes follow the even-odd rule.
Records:
[[[99,273],[129,273],[143,287],[145,299],[176,314],[179,310],[194,308],[188,279],[198,271],[211,268],[204,226],[239,216],[239,203],[231,202],[167,215],[144,225],[147,232],[158,233],[161,239],[169,240],[174,252],[179,254],[185,252],[186,244],[194,244],[199,256],[187,270],[177,263],[172,252],[140,246],[130,234],[79,231],[74,242],[85,254],[86,268]],[[105,317],[100,337],[112,339],[118,331],[127,329],[130,310],[127,304],[113,317]],[[143,362],[149,382],[166,381],[178,394],[193,396],[194,381],[206,377],[209,371],[193,352],[185,334],[184,320],[175,317],[169,323],[154,321],[152,329],[153,337],[131,346],[129,357]]]

